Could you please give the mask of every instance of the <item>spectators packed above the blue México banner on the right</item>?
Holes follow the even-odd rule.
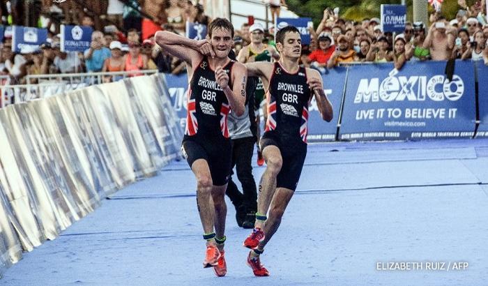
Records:
[[[394,62],[397,69],[406,61],[427,60],[471,59],[488,65],[485,1],[471,7],[464,0],[458,4],[455,19],[433,12],[429,23],[407,22],[403,33],[396,35],[381,31],[379,18],[353,22],[326,8],[317,29],[310,28],[312,41],[303,49],[301,64],[321,73],[348,62]]]

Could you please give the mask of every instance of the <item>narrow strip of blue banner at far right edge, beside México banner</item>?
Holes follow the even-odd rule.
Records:
[[[480,126],[476,137],[488,137],[488,66],[483,61],[475,63],[478,69],[478,106],[480,109]]]

